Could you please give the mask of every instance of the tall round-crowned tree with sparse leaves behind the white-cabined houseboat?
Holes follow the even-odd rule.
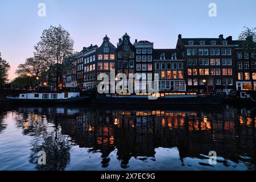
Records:
[[[58,88],[63,59],[72,55],[74,41],[61,25],[44,30],[40,39],[35,46],[34,55],[37,59],[46,61],[48,67],[58,65],[56,70],[56,88]]]

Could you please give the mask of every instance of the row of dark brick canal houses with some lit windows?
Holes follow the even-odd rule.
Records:
[[[100,47],[84,47],[64,61],[65,87],[93,88],[97,76],[110,70],[139,73],[153,79],[159,74],[159,90],[256,90],[255,52],[242,52],[240,41],[224,38],[182,38],[176,48],[156,49],[147,40],[131,43],[130,36],[119,39],[115,47],[108,36]],[[149,84],[149,83],[148,83]]]

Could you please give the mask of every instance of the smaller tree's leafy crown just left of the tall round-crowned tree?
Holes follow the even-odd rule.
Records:
[[[30,57],[26,60],[24,64],[18,65],[16,69],[16,74],[19,76],[26,76],[30,73],[32,77],[39,77],[42,75],[43,71],[46,71],[47,65],[44,61],[38,60],[35,57]]]

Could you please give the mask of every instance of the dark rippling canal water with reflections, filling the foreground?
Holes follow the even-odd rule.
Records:
[[[2,105],[0,170],[255,170],[255,114],[231,105]]]

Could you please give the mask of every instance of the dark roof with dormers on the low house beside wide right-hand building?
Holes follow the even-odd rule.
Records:
[[[159,60],[162,53],[164,53],[164,56],[166,57],[166,60],[171,60],[172,55],[176,53],[177,59],[183,59],[183,56],[181,55],[179,49],[154,49],[154,60]]]

